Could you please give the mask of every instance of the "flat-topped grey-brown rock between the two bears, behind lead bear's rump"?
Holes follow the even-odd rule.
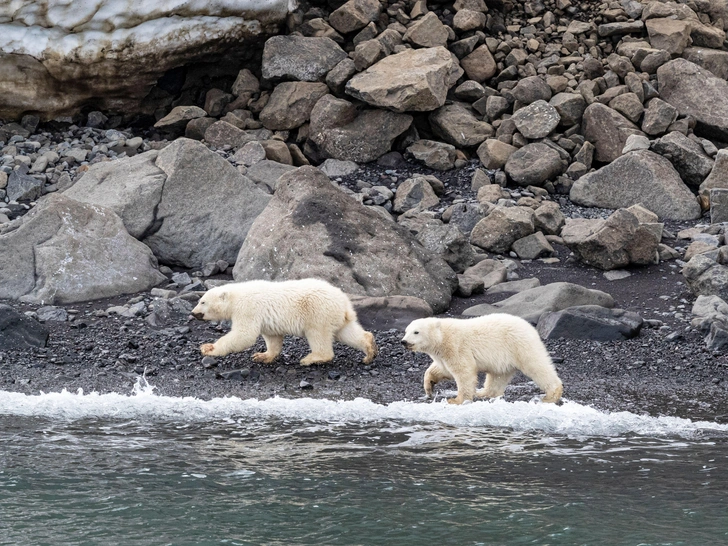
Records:
[[[415,319],[432,316],[432,308],[414,296],[356,296],[349,294],[359,323],[367,330],[404,330]]]

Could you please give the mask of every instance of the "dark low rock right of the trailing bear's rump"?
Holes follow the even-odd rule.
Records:
[[[542,339],[612,341],[637,337],[642,324],[642,317],[632,311],[581,305],[544,313],[536,329]]]

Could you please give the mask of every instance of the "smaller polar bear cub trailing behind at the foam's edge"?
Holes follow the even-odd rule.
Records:
[[[545,393],[544,402],[558,402],[563,386],[536,329],[520,317],[493,314],[472,319],[423,318],[412,321],[402,344],[426,353],[432,364],[425,372],[425,394],[443,379],[454,379],[462,404],[502,396],[517,371],[531,378]],[[476,391],[478,372],[486,372],[483,388]]]

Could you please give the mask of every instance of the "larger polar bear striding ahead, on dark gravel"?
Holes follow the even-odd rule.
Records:
[[[253,360],[270,363],[281,353],[283,336],[288,334],[308,341],[311,353],[301,360],[304,366],[333,360],[334,339],[363,351],[365,364],[378,352],[374,336],[361,327],[346,294],[319,279],[226,284],[208,290],[192,315],[200,320],[232,320],[228,334],[200,347],[206,356],[244,351],[262,335],[266,351],[255,353]]]

